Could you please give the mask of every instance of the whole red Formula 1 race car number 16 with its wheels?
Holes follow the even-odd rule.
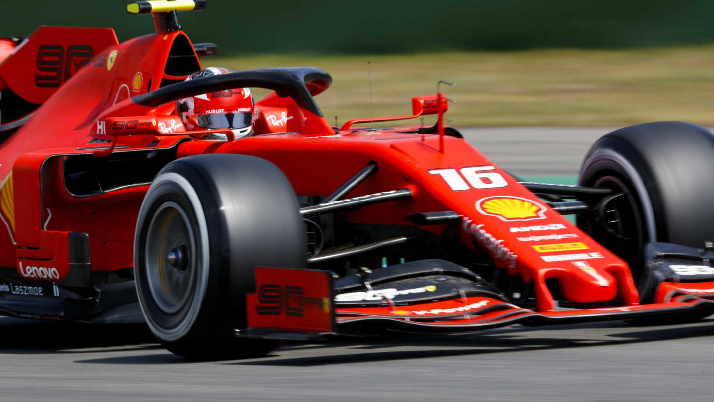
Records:
[[[334,127],[320,69],[186,81],[216,46],[192,44],[176,11],[204,8],[129,4],[156,32],[122,44],[49,26],[0,39],[2,313],[146,320],[178,355],[229,358],[333,334],[714,312],[703,127],[618,129],[579,185],[524,182],[443,125],[441,92]],[[174,109],[243,87],[274,91],[252,137],[188,130]],[[433,127],[358,126],[425,114]]]

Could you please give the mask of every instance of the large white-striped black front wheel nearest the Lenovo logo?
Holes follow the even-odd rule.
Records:
[[[195,360],[259,356],[271,340],[236,339],[245,328],[253,268],[305,268],[298,200],[271,162],[198,155],[166,165],[136,225],[134,273],[141,309],[172,353]]]

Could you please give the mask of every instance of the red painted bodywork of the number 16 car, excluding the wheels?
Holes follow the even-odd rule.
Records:
[[[183,54],[191,67],[185,71],[167,62],[170,52],[178,48],[190,51]],[[198,57],[191,52],[193,46],[183,31],[158,32],[118,44],[111,29],[41,27],[0,65],[0,90],[9,89],[28,102],[41,104],[21,129],[0,145],[1,270],[60,283],[69,271],[71,232],[89,235],[93,272],[131,268],[136,217],[148,183],[80,197],[66,186],[64,162],[68,155],[101,158],[112,151],[173,148],[176,157],[235,153],[264,158],[277,165],[301,195],[329,195],[374,161],[379,174],[346,197],[405,187],[412,196],[345,212],[341,215],[345,222],[409,225],[404,217],[413,212],[455,211],[461,215],[458,230],[463,245],[488,253],[508,275],[533,283],[538,310],[555,310],[555,300],[546,286],[549,279],[558,280],[563,297],[575,303],[619,297],[623,306],[638,305],[638,290],[623,260],[550,210],[463,139],[419,134],[416,126],[368,130],[351,128],[353,122],[349,122],[337,129],[324,117],[298,107],[291,98],[273,93],[256,104],[255,137],[206,140],[196,138],[195,133],[188,135],[181,119],[173,114],[173,102],[145,107],[132,100],[138,94],[183,82],[200,69]],[[441,94],[421,99],[421,103],[415,101],[414,115],[420,114],[419,107],[431,108],[429,112],[440,116],[446,111]],[[135,131],[129,135],[131,130]],[[423,230],[441,234],[445,228],[433,225]],[[539,235],[562,236],[551,237],[560,240],[531,238]],[[692,293],[683,286],[665,285],[655,301],[671,303],[678,295],[703,295],[699,290]],[[711,290],[714,283],[697,284],[696,288]],[[411,306],[408,312],[450,311],[484,300],[488,303],[478,308],[488,307],[492,312],[479,320],[500,322],[514,314],[536,314],[483,298]],[[508,314],[503,315],[504,311]],[[337,314],[338,321],[345,322],[381,316],[405,320],[413,315],[390,308],[338,309]]]

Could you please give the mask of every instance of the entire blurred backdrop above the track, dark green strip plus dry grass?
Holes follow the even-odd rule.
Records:
[[[125,4],[0,0],[0,36],[39,24],[111,26],[120,41],[153,31]],[[446,79],[461,127],[714,124],[713,17],[712,0],[209,0],[179,13],[193,41],[218,44],[204,66],[330,72],[317,101],[331,121],[370,116],[371,61],[375,116],[407,114],[410,97]]]

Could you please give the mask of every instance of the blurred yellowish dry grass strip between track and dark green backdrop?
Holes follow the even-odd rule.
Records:
[[[628,50],[533,50],[401,55],[276,54],[204,59],[229,69],[313,66],[333,77],[316,99],[339,122],[410,114],[411,97],[436,93],[458,102],[456,126],[622,126],[677,119],[714,124],[714,45]],[[258,92],[259,93],[259,92]],[[426,122],[433,122],[427,117]]]

